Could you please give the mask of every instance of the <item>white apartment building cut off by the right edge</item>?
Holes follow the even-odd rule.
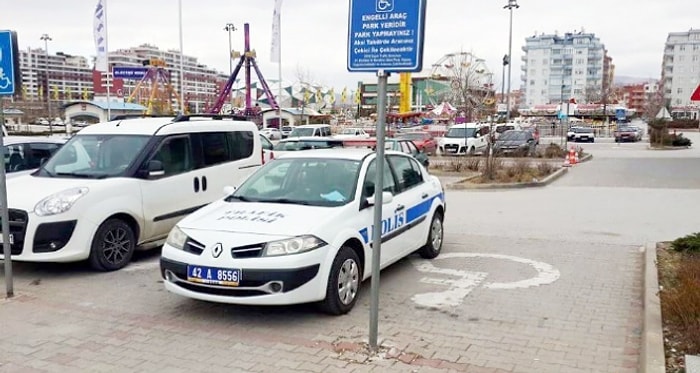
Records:
[[[700,84],[700,29],[671,32],[666,38],[661,68],[661,89],[671,111],[697,111],[690,96]],[[678,110],[674,110],[674,108]]]

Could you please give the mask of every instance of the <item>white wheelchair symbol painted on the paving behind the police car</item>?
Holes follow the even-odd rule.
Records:
[[[457,258],[488,258],[502,259],[531,266],[537,274],[528,279],[514,282],[487,282],[486,272],[463,271],[459,269],[440,268],[433,262],[440,259]],[[446,287],[447,290],[421,293],[414,295],[411,300],[416,304],[428,308],[457,307],[472,292],[481,286],[486,289],[525,289],[533,286],[547,285],[559,279],[559,270],[551,265],[517,256],[484,254],[484,253],[445,253],[432,261],[414,260],[415,268],[425,274],[440,275],[440,277],[423,277],[420,282]]]

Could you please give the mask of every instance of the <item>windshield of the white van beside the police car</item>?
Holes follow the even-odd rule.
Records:
[[[121,176],[149,139],[141,135],[77,135],[46,162],[38,175],[96,179]]]

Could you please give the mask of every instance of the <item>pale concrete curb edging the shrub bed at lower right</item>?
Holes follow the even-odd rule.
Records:
[[[665,373],[664,334],[659,299],[659,273],[656,269],[656,248],[644,248],[644,334],[640,356],[640,372]]]

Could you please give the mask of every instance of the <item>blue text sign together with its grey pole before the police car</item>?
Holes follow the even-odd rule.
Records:
[[[372,226],[372,284],[369,345],[377,351],[379,270],[384,190],[386,86],[392,72],[418,72],[423,65],[423,34],[427,0],[350,0],[348,71],[377,74],[377,147]],[[358,89],[359,91],[359,89]],[[360,97],[361,101],[361,97]],[[358,110],[359,115],[359,110]]]

